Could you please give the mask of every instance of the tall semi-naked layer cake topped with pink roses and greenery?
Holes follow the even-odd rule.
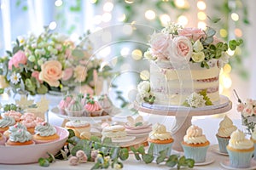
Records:
[[[203,107],[217,103],[219,72],[227,64],[226,51],[242,41],[221,42],[207,27],[183,28],[169,23],[151,35],[144,58],[150,77],[137,86],[137,101],[150,105]]]

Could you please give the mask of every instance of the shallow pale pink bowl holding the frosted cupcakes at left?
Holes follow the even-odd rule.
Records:
[[[62,127],[55,127],[60,139],[45,144],[32,144],[24,146],[0,145],[0,164],[26,164],[36,163],[40,157],[49,157],[58,153],[66,143],[68,131]]]

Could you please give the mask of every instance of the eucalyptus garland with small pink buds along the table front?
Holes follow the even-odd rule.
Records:
[[[129,150],[127,148],[121,148],[118,144],[112,143],[110,138],[100,139],[96,136],[91,136],[88,139],[79,139],[75,136],[73,130],[68,129],[69,136],[67,139],[67,145],[53,156],[47,152],[47,158],[39,158],[38,164],[42,167],[49,167],[49,164],[58,160],[69,161],[70,165],[79,165],[79,163],[94,162],[95,164],[90,169],[108,169],[112,167],[114,169],[121,169],[124,167],[122,161],[129,158]],[[144,161],[146,164],[156,160],[157,164],[165,162],[166,167],[189,167],[192,168],[195,165],[193,159],[186,159],[184,156],[171,155],[166,157],[167,150],[160,151],[159,156],[153,155],[154,145],[150,144],[148,153],[145,152],[143,146],[135,149],[131,147],[131,151],[134,153],[136,160]]]

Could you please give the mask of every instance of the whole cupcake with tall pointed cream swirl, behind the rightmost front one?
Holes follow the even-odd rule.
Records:
[[[216,137],[218,139],[218,150],[222,153],[228,153],[226,147],[229,144],[230,135],[236,131],[237,127],[233,125],[233,122],[228,116],[224,116],[224,119],[219,123],[218,133]]]

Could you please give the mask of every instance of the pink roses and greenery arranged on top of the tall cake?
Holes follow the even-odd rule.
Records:
[[[218,59],[219,65],[224,65],[229,60],[225,52],[229,48],[235,50],[236,46],[241,45],[242,40],[221,42],[215,34],[216,31],[211,27],[203,31],[199,28],[183,28],[169,23],[150,37],[150,48],[144,53],[144,57],[151,60],[169,60],[176,65],[201,63],[201,67],[206,68],[209,68],[208,61]]]

